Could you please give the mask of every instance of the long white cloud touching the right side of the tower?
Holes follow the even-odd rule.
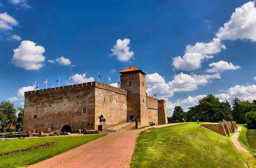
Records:
[[[174,92],[192,91],[199,86],[206,85],[212,79],[220,79],[220,74],[214,75],[188,75],[177,74],[173,79],[166,82],[158,73],[146,75],[147,93],[156,94],[158,98],[172,97]]]

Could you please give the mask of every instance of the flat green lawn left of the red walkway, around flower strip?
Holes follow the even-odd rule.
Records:
[[[88,136],[61,136],[61,137],[39,137],[0,141],[0,154],[17,149],[26,149],[31,146],[44,144],[46,142],[55,142],[49,148],[35,149],[17,154],[9,154],[0,157],[0,167],[25,166],[37,163],[39,161],[51,158],[61,154],[69,149],[76,148],[92,140],[100,138],[107,134],[88,135]]]

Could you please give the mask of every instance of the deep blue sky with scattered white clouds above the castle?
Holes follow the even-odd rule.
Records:
[[[186,111],[207,94],[256,99],[256,7],[247,0],[0,0],[0,100],[134,65],[148,94]],[[224,24],[225,23],[225,24]],[[119,40],[118,40],[119,39]],[[190,46],[188,46],[190,45]],[[15,51],[14,51],[15,50]],[[180,56],[180,57],[179,57]],[[49,61],[50,60],[50,61]],[[255,78],[255,79],[254,79]],[[115,84],[113,84],[115,85]]]

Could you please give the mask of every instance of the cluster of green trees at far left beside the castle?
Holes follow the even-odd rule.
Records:
[[[18,112],[18,116],[16,116]],[[23,129],[24,108],[15,108],[13,103],[9,100],[0,103],[0,132],[14,131],[11,126],[15,126],[15,131],[22,131]]]

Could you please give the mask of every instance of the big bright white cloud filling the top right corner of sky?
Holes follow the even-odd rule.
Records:
[[[231,15],[217,33],[222,40],[250,39],[256,41],[255,1],[247,2]]]

